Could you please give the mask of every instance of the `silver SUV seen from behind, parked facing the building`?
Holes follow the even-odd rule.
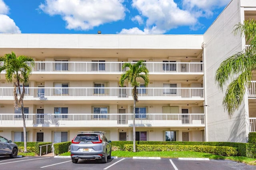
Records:
[[[106,163],[111,158],[110,142],[103,132],[80,132],[71,143],[71,160],[77,163],[78,159],[101,159],[102,163]]]

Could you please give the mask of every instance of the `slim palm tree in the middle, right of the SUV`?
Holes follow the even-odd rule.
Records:
[[[133,103],[133,152],[136,152],[136,147],[135,147],[135,106],[136,102],[138,102],[138,91],[137,87],[140,87],[140,82],[138,80],[142,78],[144,80],[144,85],[145,87],[148,86],[148,69],[146,66],[143,64],[143,60],[138,61],[135,64],[132,63],[124,63],[122,69],[128,67],[129,69],[124,72],[121,77],[120,77],[120,86],[124,86],[124,82],[128,81],[133,89],[132,89],[132,97],[134,100]]]

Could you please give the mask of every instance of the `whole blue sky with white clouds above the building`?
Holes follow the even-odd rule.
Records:
[[[0,33],[203,34],[230,0],[0,0]]]

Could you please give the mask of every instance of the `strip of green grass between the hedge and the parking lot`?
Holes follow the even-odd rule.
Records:
[[[62,156],[70,156],[70,152],[60,154]],[[209,159],[229,159],[245,164],[256,165],[256,159],[247,158],[244,156],[219,156],[215,154],[189,151],[156,151],[156,152],[128,152],[128,151],[112,151],[112,156],[117,157],[133,157],[133,156],[147,156],[147,157],[161,157],[161,158],[209,158]]]

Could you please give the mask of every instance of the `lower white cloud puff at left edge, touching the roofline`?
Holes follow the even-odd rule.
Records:
[[[21,31],[9,16],[0,14],[0,33],[21,33]]]

